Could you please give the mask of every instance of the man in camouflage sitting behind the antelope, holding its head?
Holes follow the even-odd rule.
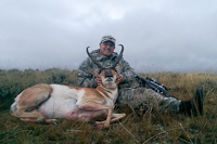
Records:
[[[110,67],[115,62],[117,53],[115,50],[115,38],[104,36],[100,41],[100,49],[92,51],[90,54],[104,67]],[[176,97],[164,97],[159,93],[141,87],[136,79],[135,70],[124,60],[117,63],[123,68],[117,75],[118,97],[117,104],[128,104],[130,107],[139,109],[152,107],[163,112],[178,112],[188,115],[203,113],[203,90],[199,89],[196,94],[190,101],[181,101]],[[77,84],[78,87],[95,88],[101,83],[100,77],[94,77],[87,67],[99,69],[99,67],[88,57],[78,68]]]

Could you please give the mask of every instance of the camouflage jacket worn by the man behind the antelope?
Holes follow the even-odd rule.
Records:
[[[90,52],[90,54],[104,67],[112,66],[112,64],[118,56],[118,54],[115,52],[113,52],[111,56],[104,56],[99,54],[99,50],[94,50]],[[123,68],[120,70],[120,75],[123,75],[123,81],[118,84],[118,88],[131,88],[131,82],[135,80],[136,77],[135,70],[123,57],[119,60],[116,66],[118,65],[123,65]],[[90,57],[86,58],[78,68],[77,86],[97,88],[97,78],[88,70],[88,66],[93,69],[99,69],[99,67],[90,60]]]

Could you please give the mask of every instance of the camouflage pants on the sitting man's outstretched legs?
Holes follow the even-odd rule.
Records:
[[[118,90],[117,104],[128,104],[132,108],[139,108],[143,105],[164,113],[178,112],[180,103],[180,100],[164,97],[146,88],[123,88]]]

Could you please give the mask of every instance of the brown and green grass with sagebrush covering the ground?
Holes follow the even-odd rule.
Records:
[[[217,143],[217,75],[210,71],[140,74],[170,87],[169,94],[182,100],[190,99],[197,87],[203,87],[205,102],[202,117],[161,114],[151,109],[138,116],[130,107],[124,107],[116,112],[126,113],[126,118],[113,123],[110,129],[98,130],[92,122],[61,119],[58,125],[31,123],[11,116],[9,107],[23,89],[40,82],[75,86],[76,75],[76,70],[56,68],[43,71],[0,70],[0,143]]]

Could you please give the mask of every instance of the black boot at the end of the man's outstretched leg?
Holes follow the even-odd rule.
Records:
[[[189,101],[181,101],[179,112],[188,116],[203,115],[203,89],[197,88],[194,96]]]

